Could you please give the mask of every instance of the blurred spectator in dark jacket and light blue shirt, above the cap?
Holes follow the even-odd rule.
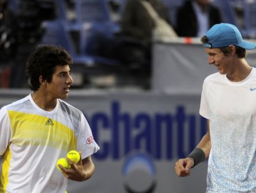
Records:
[[[221,12],[210,0],[185,1],[176,14],[176,32],[179,37],[202,37],[221,22]]]

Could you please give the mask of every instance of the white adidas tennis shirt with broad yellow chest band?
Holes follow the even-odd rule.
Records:
[[[69,150],[82,159],[100,148],[80,110],[58,100],[54,110],[39,108],[29,94],[0,110],[0,192],[61,193],[67,179],[57,159]]]

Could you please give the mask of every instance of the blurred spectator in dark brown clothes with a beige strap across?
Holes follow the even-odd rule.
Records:
[[[133,76],[146,89],[151,83],[152,40],[174,32],[169,16],[161,0],[127,0],[122,13],[115,53],[121,63],[134,70]]]

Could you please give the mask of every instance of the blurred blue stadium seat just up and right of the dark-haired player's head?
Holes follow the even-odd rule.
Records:
[[[75,0],[75,23],[68,24],[69,30],[80,34],[79,50],[89,54],[99,63],[115,64],[115,60],[100,57],[98,48],[102,42],[114,37],[120,30],[117,23],[111,21],[109,5],[106,0]]]

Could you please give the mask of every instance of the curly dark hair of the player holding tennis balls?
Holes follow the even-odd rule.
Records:
[[[72,63],[71,55],[64,48],[56,45],[40,45],[30,55],[26,63],[30,89],[33,91],[39,89],[40,76],[48,83],[51,83],[57,65],[71,66]]]

